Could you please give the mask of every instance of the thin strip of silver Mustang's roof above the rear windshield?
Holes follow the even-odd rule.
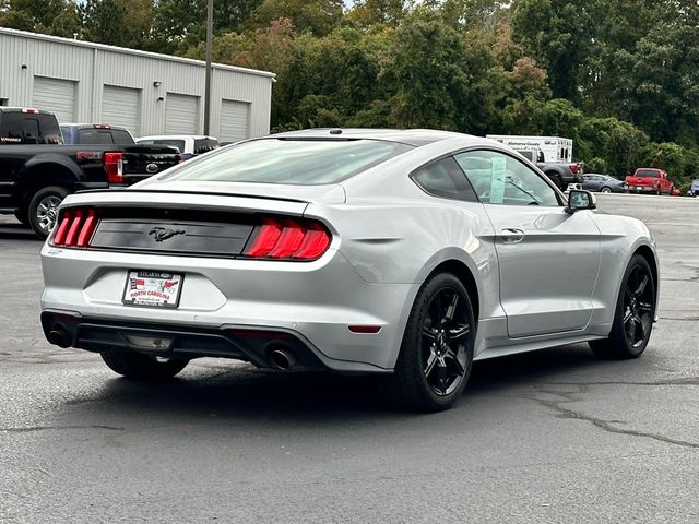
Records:
[[[491,143],[491,140],[482,136],[473,136],[453,131],[435,129],[362,129],[362,128],[322,128],[304,129],[300,131],[286,131],[284,133],[270,134],[266,139],[370,139],[401,142],[408,145],[420,146],[449,139],[473,139],[475,144]]]

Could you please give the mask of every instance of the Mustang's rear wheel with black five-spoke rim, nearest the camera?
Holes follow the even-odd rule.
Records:
[[[450,273],[433,276],[417,294],[395,362],[403,403],[420,412],[451,407],[469,381],[474,341],[465,287]]]

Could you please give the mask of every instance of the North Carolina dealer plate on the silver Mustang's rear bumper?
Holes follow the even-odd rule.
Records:
[[[129,271],[121,301],[127,306],[177,308],[185,275],[161,271]]]

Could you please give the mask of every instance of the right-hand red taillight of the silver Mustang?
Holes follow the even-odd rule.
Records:
[[[242,252],[253,259],[315,260],[330,246],[330,233],[317,222],[265,218]]]

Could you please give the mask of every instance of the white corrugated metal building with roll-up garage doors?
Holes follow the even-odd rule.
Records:
[[[0,27],[0,105],[47,109],[59,122],[125,126],[134,136],[201,134],[205,70],[199,60]],[[209,134],[268,134],[273,81],[212,64]]]

